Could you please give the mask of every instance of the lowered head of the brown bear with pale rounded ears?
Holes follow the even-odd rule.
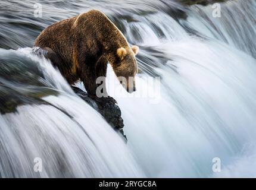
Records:
[[[120,84],[129,92],[136,91],[135,75],[138,73],[138,64],[135,55],[139,47],[118,47],[116,51],[117,59],[115,63],[110,63]]]

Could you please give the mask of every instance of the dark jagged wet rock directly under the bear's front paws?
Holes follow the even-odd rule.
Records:
[[[117,106],[117,103],[113,99],[113,97],[107,98],[92,98],[89,97],[88,94],[77,87],[71,87],[73,91],[85,102],[87,102],[90,106],[93,107],[97,112],[101,113],[101,115],[105,118],[105,120],[110,124],[115,131],[120,132],[121,135],[127,140],[126,135],[123,132],[123,119],[121,118],[121,110]]]

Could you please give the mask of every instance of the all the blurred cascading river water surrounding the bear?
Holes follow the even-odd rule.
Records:
[[[49,1],[42,18],[22,11],[30,1],[1,4],[0,105],[14,105],[0,109],[1,177],[256,177],[255,1],[227,1],[220,18],[211,5],[171,1]],[[127,144],[27,47],[49,24],[92,8],[141,47],[133,97],[108,83]],[[161,77],[160,88],[149,76]],[[215,157],[221,172],[212,170]]]

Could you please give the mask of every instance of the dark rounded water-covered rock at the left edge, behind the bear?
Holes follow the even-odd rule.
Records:
[[[46,85],[35,62],[17,51],[1,49],[0,68],[1,114],[16,112],[21,105],[49,105],[42,98],[58,95]]]

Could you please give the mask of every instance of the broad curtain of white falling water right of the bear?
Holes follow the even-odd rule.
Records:
[[[182,24],[204,38],[190,36],[163,12],[130,26],[143,33],[142,44],[170,60],[157,69],[161,103],[115,96],[129,148],[148,176],[255,177],[256,11],[255,2],[243,3],[227,2],[221,18],[212,17],[211,5],[193,6]],[[144,20],[158,20],[166,37]],[[223,172],[213,172],[214,157]]]

